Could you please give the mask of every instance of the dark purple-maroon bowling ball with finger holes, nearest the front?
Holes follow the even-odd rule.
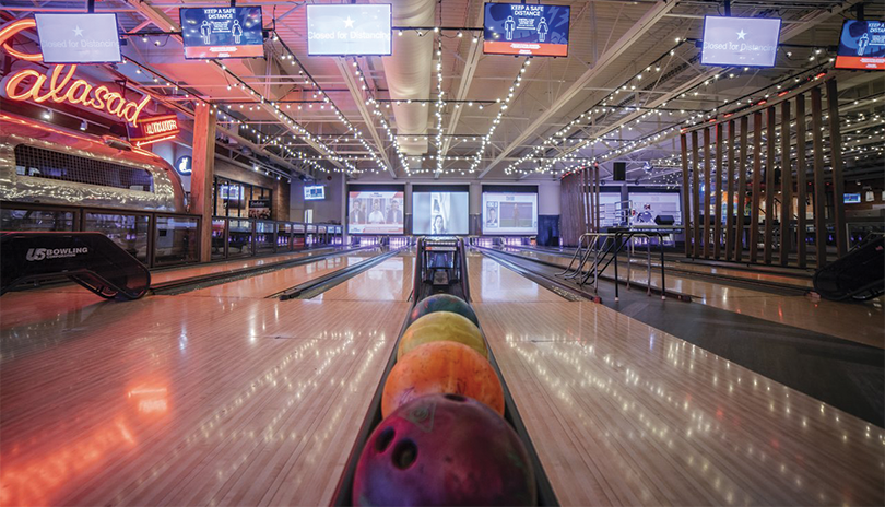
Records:
[[[375,428],[353,483],[354,505],[535,505],[529,453],[482,403],[430,394]]]

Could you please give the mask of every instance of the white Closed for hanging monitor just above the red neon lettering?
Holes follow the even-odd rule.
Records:
[[[45,63],[120,62],[117,14],[34,14]]]

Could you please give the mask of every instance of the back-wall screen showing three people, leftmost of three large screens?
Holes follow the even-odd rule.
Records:
[[[403,192],[358,191],[347,193],[350,234],[402,234]]]

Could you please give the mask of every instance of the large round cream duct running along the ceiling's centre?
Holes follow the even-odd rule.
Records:
[[[393,0],[393,26],[435,26],[435,0]],[[394,101],[426,101],[430,98],[434,33],[418,37],[415,33],[393,36],[393,56],[384,58],[387,87]],[[409,155],[427,153],[427,122],[432,107],[422,104],[396,103],[400,148]],[[414,138],[417,137],[417,138]],[[406,139],[408,138],[408,139]],[[417,139],[417,141],[415,141]]]

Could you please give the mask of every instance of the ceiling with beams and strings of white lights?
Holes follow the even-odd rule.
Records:
[[[240,0],[262,8],[266,58],[213,62],[184,59],[178,9],[229,2],[110,0],[96,11],[116,12],[129,34],[129,61],[106,72],[185,116],[217,107],[222,140],[248,146],[275,170],[519,180],[595,160],[604,175],[607,163],[628,162],[629,178],[646,184],[674,180],[680,126],[760,98],[786,76],[831,67],[842,21],[858,3],[868,17],[885,17],[881,2],[733,0],[732,15],[782,17],[781,47],[772,69],[723,69],[701,66],[695,44],[703,17],[722,13],[721,1],[556,0],[571,8],[568,57],[531,60],[482,54],[482,32],[472,28],[482,26],[483,0],[374,3],[387,2],[402,28],[393,55],[358,58],[307,56],[305,5],[312,1]],[[0,14],[35,10],[83,12],[84,2],[8,0]],[[858,118],[872,120],[853,135],[881,146],[883,102],[873,101],[885,93],[881,74],[847,73],[839,83],[856,127]],[[882,151],[860,154],[869,165]]]

